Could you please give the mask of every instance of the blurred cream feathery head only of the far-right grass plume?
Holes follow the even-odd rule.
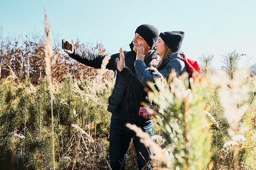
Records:
[[[249,104],[244,103],[244,101],[248,97],[250,88],[243,83],[248,75],[249,72],[245,68],[233,73],[232,78],[221,70],[217,70],[212,76],[213,84],[220,85],[220,101],[224,108],[224,117],[230,125],[228,132],[231,137],[236,135],[238,122],[249,108]]]

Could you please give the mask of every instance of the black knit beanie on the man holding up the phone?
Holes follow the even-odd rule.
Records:
[[[140,25],[135,33],[138,33],[147,42],[152,49],[156,41],[158,41],[158,29],[153,25],[143,24]]]

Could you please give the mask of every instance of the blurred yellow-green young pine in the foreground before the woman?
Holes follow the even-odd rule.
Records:
[[[210,169],[211,135],[205,117],[203,87],[204,84],[192,84],[188,89],[188,76],[179,78],[171,74],[168,86],[156,80],[156,86],[150,83],[153,94],[149,98],[163,111],[157,119],[166,138],[175,169]]]

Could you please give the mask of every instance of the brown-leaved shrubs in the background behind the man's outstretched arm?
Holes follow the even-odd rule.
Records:
[[[13,70],[18,81],[30,78],[32,84],[38,84],[39,79],[46,76],[44,61],[44,37],[33,35],[24,37],[6,37],[1,36],[0,49],[0,78],[6,78]],[[76,79],[94,79],[98,74],[98,70],[81,64],[60,49],[61,40],[55,40],[59,43],[52,45],[53,57],[52,62],[52,78],[61,81],[67,74],[71,74]],[[100,43],[83,44],[79,40],[74,41],[75,48],[85,52],[92,52],[104,55],[106,50]],[[110,71],[104,74],[104,78],[111,79],[113,74]]]

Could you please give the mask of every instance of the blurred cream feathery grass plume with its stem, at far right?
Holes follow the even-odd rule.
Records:
[[[237,69],[233,73],[234,66],[230,66],[230,71],[221,71],[217,70],[216,73],[212,76],[212,83],[218,86],[218,96],[220,97],[220,102],[222,108],[224,109],[223,116],[229,124],[228,134],[231,138],[235,138],[240,134],[245,133],[243,129],[240,128],[240,122],[242,117],[250,108],[250,103],[246,102],[249,99],[250,87],[248,82],[249,71],[245,67],[243,69]],[[241,126],[242,127],[242,126]],[[241,131],[242,130],[242,131]],[[233,139],[234,142],[230,139],[226,139],[223,147],[229,146],[232,144],[231,154],[233,153],[233,159],[230,160],[230,168],[241,168],[243,160],[243,152],[245,150],[242,146],[242,143],[237,142]],[[230,144],[231,143],[231,144]],[[233,145],[236,143],[236,145]],[[224,150],[225,151],[225,150]],[[230,152],[230,150],[226,150]]]

